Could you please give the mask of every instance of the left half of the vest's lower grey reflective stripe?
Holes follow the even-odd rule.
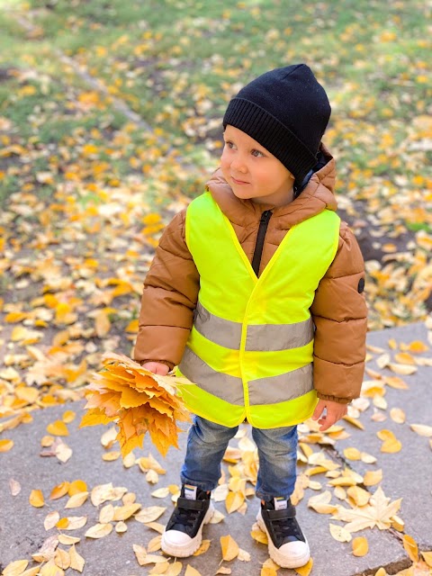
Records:
[[[191,382],[197,384],[205,392],[210,392],[221,400],[244,406],[243,383],[241,378],[222,374],[213,370],[199,356],[186,346],[181,363],[180,371]]]

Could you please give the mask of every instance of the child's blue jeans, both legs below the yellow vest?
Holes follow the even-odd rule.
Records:
[[[182,483],[198,486],[205,491],[216,488],[221,460],[229,440],[237,431],[238,426],[226,428],[194,416],[187,437]],[[257,444],[259,457],[257,497],[261,500],[275,497],[288,499],[293,494],[296,478],[297,427],[252,428],[252,437]]]

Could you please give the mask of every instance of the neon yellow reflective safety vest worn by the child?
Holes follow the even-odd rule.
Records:
[[[185,236],[200,274],[193,329],[177,374],[189,410],[227,426],[293,426],[317,403],[311,303],[338,249],[333,211],[293,226],[257,278],[229,219],[203,193]]]

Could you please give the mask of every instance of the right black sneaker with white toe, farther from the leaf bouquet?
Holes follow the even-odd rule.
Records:
[[[295,519],[295,508],[290,500],[275,498],[261,504],[257,523],[266,532],[268,554],[276,564],[282,568],[300,568],[309,562],[308,541]]]

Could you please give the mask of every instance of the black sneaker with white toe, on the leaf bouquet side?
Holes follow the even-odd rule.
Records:
[[[210,522],[213,513],[210,492],[184,484],[162,535],[163,552],[181,558],[191,556],[201,546],[202,527]]]

